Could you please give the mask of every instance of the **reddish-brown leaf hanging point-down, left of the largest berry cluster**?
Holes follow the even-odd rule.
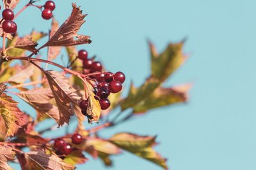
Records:
[[[76,90],[73,89],[63,74],[57,71],[44,71],[44,73],[60,111],[60,122],[58,124],[68,123],[70,116],[74,115],[72,104],[79,105],[81,97],[77,95]]]

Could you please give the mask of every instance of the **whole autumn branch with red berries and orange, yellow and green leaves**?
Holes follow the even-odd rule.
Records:
[[[113,155],[122,150],[168,169],[166,159],[154,150],[156,136],[120,132],[102,138],[99,131],[149,110],[188,100],[189,83],[163,87],[164,81],[186,60],[182,52],[184,41],[170,43],[161,53],[149,42],[151,73],[140,87],[131,83],[124,96],[124,73],[111,73],[86,50],[76,50],[77,45],[92,43],[90,36],[77,34],[86,17],[80,7],[73,3],[70,17],[59,26],[53,17],[53,1],[29,1],[15,14],[13,9],[18,3],[19,0],[3,0],[0,20],[0,169],[10,169],[9,162],[18,162],[26,170],[75,169],[76,164],[88,161],[88,155],[111,166]],[[51,31],[32,31],[23,37],[17,34],[15,18],[29,6],[41,10],[45,20],[51,20]],[[46,36],[47,41],[38,47],[37,42]],[[47,48],[46,59],[41,56],[43,48]],[[54,61],[61,48],[67,51],[67,65]],[[58,69],[49,70],[49,65]],[[15,101],[14,96],[19,99]],[[33,108],[31,113],[24,112],[28,105]],[[36,115],[32,116],[34,111]],[[38,130],[38,124],[51,119],[54,124],[47,123],[45,129]],[[95,123],[98,124],[90,127]],[[75,131],[63,136],[54,132],[70,124],[76,124]],[[51,133],[52,138],[45,138],[45,133]]]

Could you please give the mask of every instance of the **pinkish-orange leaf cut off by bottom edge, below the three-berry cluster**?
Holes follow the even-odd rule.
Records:
[[[47,155],[46,153],[38,150],[25,153],[23,158],[25,164],[22,165],[22,169],[26,170],[72,170],[74,166],[65,163],[62,159],[55,155]]]

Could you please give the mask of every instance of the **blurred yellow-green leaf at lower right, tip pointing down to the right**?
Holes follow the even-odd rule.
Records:
[[[128,152],[134,153],[138,157],[147,159],[164,169],[168,169],[166,159],[161,157],[152,148],[152,146],[156,145],[155,139],[156,136],[138,136],[131,133],[119,133],[115,134],[109,141]]]

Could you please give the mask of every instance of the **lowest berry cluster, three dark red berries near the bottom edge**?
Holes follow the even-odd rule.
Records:
[[[73,144],[80,145],[83,142],[83,137],[81,134],[73,134],[71,140]],[[53,145],[55,150],[63,155],[69,155],[72,152],[72,146],[70,143],[66,143],[66,141],[62,138],[54,139]]]

